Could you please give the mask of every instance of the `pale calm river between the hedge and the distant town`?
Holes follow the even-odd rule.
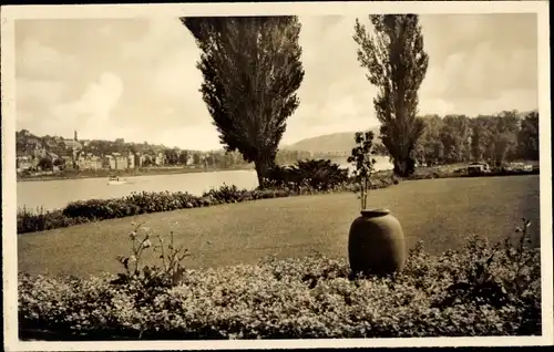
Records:
[[[348,165],[342,165],[348,167]],[[392,168],[387,158],[377,158],[376,169]],[[188,191],[202,195],[223,184],[252,189],[258,180],[254,170],[228,170],[195,174],[172,174],[123,177],[123,185],[107,185],[105,178],[33,180],[18,183],[18,207],[47,210],[60,209],[69,203],[86,199],[121,198],[134,191]]]

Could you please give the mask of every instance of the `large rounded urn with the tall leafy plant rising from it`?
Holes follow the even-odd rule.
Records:
[[[373,133],[356,133],[357,146],[348,158],[360,188],[361,215],[350,226],[348,260],[352,273],[387,275],[402,270],[406,250],[400,222],[388,209],[368,209],[368,191],[376,161]]]

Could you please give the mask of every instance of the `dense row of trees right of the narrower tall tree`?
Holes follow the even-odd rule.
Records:
[[[488,161],[538,161],[538,113],[505,111],[495,115],[421,117],[424,130],[414,149],[422,164]]]

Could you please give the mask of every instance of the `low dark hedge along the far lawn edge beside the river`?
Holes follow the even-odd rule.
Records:
[[[396,184],[392,176],[381,174],[376,176],[373,188],[384,188]],[[90,199],[70,203],[62,210],[48,211],[39,208],[31,211],[22,208],[18,211],[18,234],[50,230],[90,221],[123,218],[147,213],[171,211],[177,209],[207,207],[213,205],[240,203],[258,199],[290,197],[307,194],[330,191],[356,191],[357,186],[348,180],[332,184],[332,187],[314,188],[310,184],[268,184],[268,188],[239,189],[236,186],[223,185],[213,188],[202,196],[188,193],[142,191],[119,199]]]

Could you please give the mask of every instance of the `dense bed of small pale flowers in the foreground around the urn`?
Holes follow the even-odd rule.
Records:
[[[384,278],[352,278],[346,260],[321,255],[183,270],[178,282],[158,286],[144,278],[115,283],[107,275],[20,275],[20,337],[35,330],[92,340],[540,334],[540,251],[525,238],[489,246],[471,237],[438,257],[419,244],[404,270]]]

